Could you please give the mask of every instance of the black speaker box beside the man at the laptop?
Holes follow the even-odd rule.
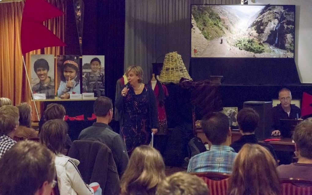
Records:
[[[272,102],[248,101],[244,102],[244,108],[253,108],[260,116],[258,127],[255,131],[258,140],[264,140],[271,136],[272,128]]]

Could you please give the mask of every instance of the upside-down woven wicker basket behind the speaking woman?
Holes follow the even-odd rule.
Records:
[[[159,76],[160,82],[179,83],[182,77],[192,80],[182,61],[181,55],[179,55],[176,51],[167,53],[165,60],[163,61],[163,69],[161,70]]]

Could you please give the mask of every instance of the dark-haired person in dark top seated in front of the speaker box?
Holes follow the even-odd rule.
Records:
[[[237,114],[237,123],[242,134],[241,138],[233,142],[230,146],[238,153],[244,144],[259,144],[255,135],[255,130],[258,127],[259,114],[252,108],[243,108]],[[268,149],[272,156],[276,159],[273,147],[270,144],[260,144]]]

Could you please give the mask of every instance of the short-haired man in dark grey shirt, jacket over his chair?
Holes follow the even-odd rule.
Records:
[[[113,117],[112,100],[108,97],[99,97],[93,105],[96,122],[92,126],[83,129],[79,140],[98,140],[106,144],[111,150],[117,166],[119,176],[124,173],[129,157],[121,136],[108,125]]]

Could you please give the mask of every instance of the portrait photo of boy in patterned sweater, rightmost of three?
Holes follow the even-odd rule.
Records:
[[[83,93],[105,96],[104,56],[82,56],[82,61]]]

